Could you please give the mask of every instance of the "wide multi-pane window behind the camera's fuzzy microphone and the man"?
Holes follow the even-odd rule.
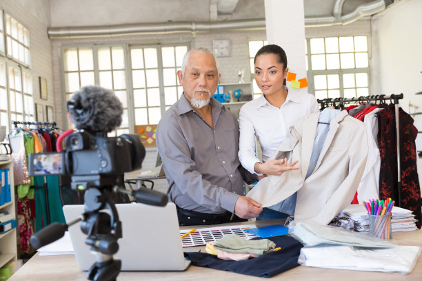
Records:
[[[188,44],[64,48],[66,100],[84,85],[101,85],[114,90],[123,104],[123,120],[113,135],[128,134],[134,125],[157,124],[183,93],[177,70],[187,51]],[[130,91],[133,98],[128,98]]]

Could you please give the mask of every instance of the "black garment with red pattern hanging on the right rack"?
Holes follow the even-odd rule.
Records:
[[[417,129],[413,118],[399,108],[400,167],[401,167],[401,202],[397,183],[397,149],[394,105],[382,105],[384,110],[378,113],[378,143],[381,157],[379,176],[380,198],[392,198],[396,205],[413,211],[416,226],[422,226],[421,187],[416,167]]]

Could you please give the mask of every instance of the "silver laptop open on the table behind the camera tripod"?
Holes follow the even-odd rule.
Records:
[[[123,238],[113,256],[121,260],[122,271],[183,271],[190,261],[183,256],[176,205],[117,204]],[[83,205],[63,206],[66,222],[83,213]],[[85,244],[86,234],[79,224],[69,227],[70,240],[79,269],[88,271],[95,255]]]

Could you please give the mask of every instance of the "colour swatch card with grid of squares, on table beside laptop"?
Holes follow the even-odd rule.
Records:
[[[237,234],[241,238],[250,240],[252,238],[257,238],[258,236],[245,231],[246,229],[255,228],[256,225],[232,225],[230,227],[210,227],[197,229],[197,231],[189,233],[187,236],[182,238],[183,247],[194,247],[205,245],[206,243],[217,241],[223,238],[223,235],[226,234]],[[185,234],[190,229],[183,229],[180,231],[180,235]]]

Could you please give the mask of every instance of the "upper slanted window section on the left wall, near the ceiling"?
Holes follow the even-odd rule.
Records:
[[[30,37],[26,28],[16,19],[6,15],[7,55],[23,65],[30,65]]]

